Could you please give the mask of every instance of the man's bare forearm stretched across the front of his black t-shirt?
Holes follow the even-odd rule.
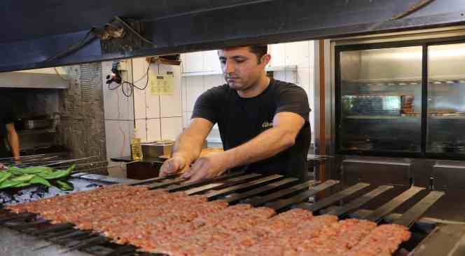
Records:
[[[296,136],[287,130],[271,128],[239,147],[224,151],[228,168],[243,166],[275,156],[295,143]]]

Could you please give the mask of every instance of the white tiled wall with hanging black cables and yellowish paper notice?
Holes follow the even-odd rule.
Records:
[[[109,90],[106,84],[106,75],[111,72],[112,63],[102,62],[107,159],[130,156],[134,124],[142,142],[174,140],[182,130],[180,67],[151,65],[151,72],[155,76],[173,72],[174,95],[151,95],[150,86],[147,86],[145,90],[134,88],[134,95],[125,97],[121,88]],[[127,63],[127,72],[122,72],[123,80],[144,88],[148,62],[145,58],[136,58],[127,60]],[[113,172],[116,173],[111,175],[125,177],[125,168],[116,168]]]

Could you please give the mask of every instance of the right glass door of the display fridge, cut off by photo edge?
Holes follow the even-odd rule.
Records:
[[[465,43],[428,47],[426,153],[465,155]]]

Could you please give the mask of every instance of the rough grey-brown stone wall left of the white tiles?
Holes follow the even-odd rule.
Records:
[[[69,89],[60,94],[60,144],[71,150],[71,158],[95,156],[106,159],[102,64],[65,67]]]

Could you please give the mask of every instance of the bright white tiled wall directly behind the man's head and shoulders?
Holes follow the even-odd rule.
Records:
[[[279,43],[270,45],[268,51],[272,56],[270,67],[294,65],[297,67],[296,71],[284,69],[284,71],[275,72],[275,79],[301,86],[307,93],[310,109],[314,109],[314,41]],[[221,72],[218,71],[219,60],[215,50],[183,54],[181,58],[183,59],[183,74],[188,74],[188,76],[181,76],[183,127],[186,127],[192,116],[193,105],[197,97],[209,88],[220,86],[225,81],[221,74],[211,74]],[[218,65],[215,66],[214,62]],[[310,112],[310,125],[313,142],[313,111]],[[211,131],[208,140],[220,141],[217,127]]]

